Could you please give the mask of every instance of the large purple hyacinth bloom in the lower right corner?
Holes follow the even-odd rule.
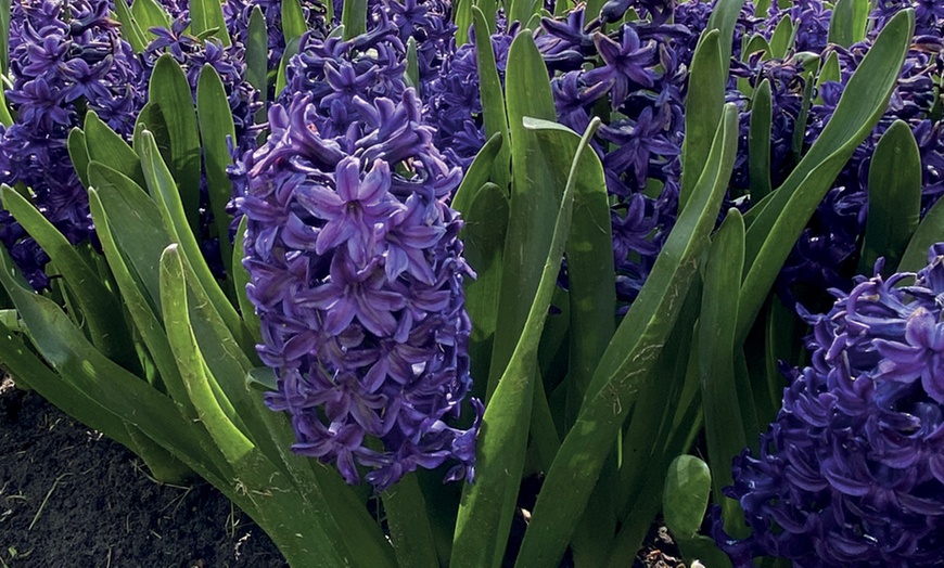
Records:
[[[881,266],[876,267],[876,272]],[[760,455],[728,496],[753,534],[715,537],[738,566],[930,566],[944,557],[944,244],[914,274],[858,277],[805,314],[812,365],[793,370]]]

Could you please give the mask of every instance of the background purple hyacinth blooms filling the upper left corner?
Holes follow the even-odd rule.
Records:
[[[187,70],[195,92],[204,64],[220,74],[237,125],[237,143],[252,147],[257,132],[255,91],[244,80],[242,48],[224,49],[183,33],[186,10],[167,3],[177,15],[170,29],[154,28],[156,38],[136,54],[111,18],[110,0],[21,0],[12,4],[10,72],[7,99],[16,120],[0,127],[0,182],[33,190],[40,211],[69,240],[94,238],[88,196],[72,167],[68,132],[94,111],[113,130],[129,139],[146,102],[154,62],[168,51]],[[205,216],[206,217],[206,216]],[[8,214],[0,216],[0,240],[37,289],[49,285],[48,256]]]

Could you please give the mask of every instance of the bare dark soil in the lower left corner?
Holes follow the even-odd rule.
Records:
[[[130,451],[0,384],[0,568],[283,567],[212,486],[158,485]]]

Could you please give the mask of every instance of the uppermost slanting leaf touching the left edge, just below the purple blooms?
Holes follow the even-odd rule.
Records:
[[[10,211],[49,255],[78,301],[95,348],[132,373],[141,371],[122,306],[98,273],[36,207],[9,185],[0,185],[3,208]]]

